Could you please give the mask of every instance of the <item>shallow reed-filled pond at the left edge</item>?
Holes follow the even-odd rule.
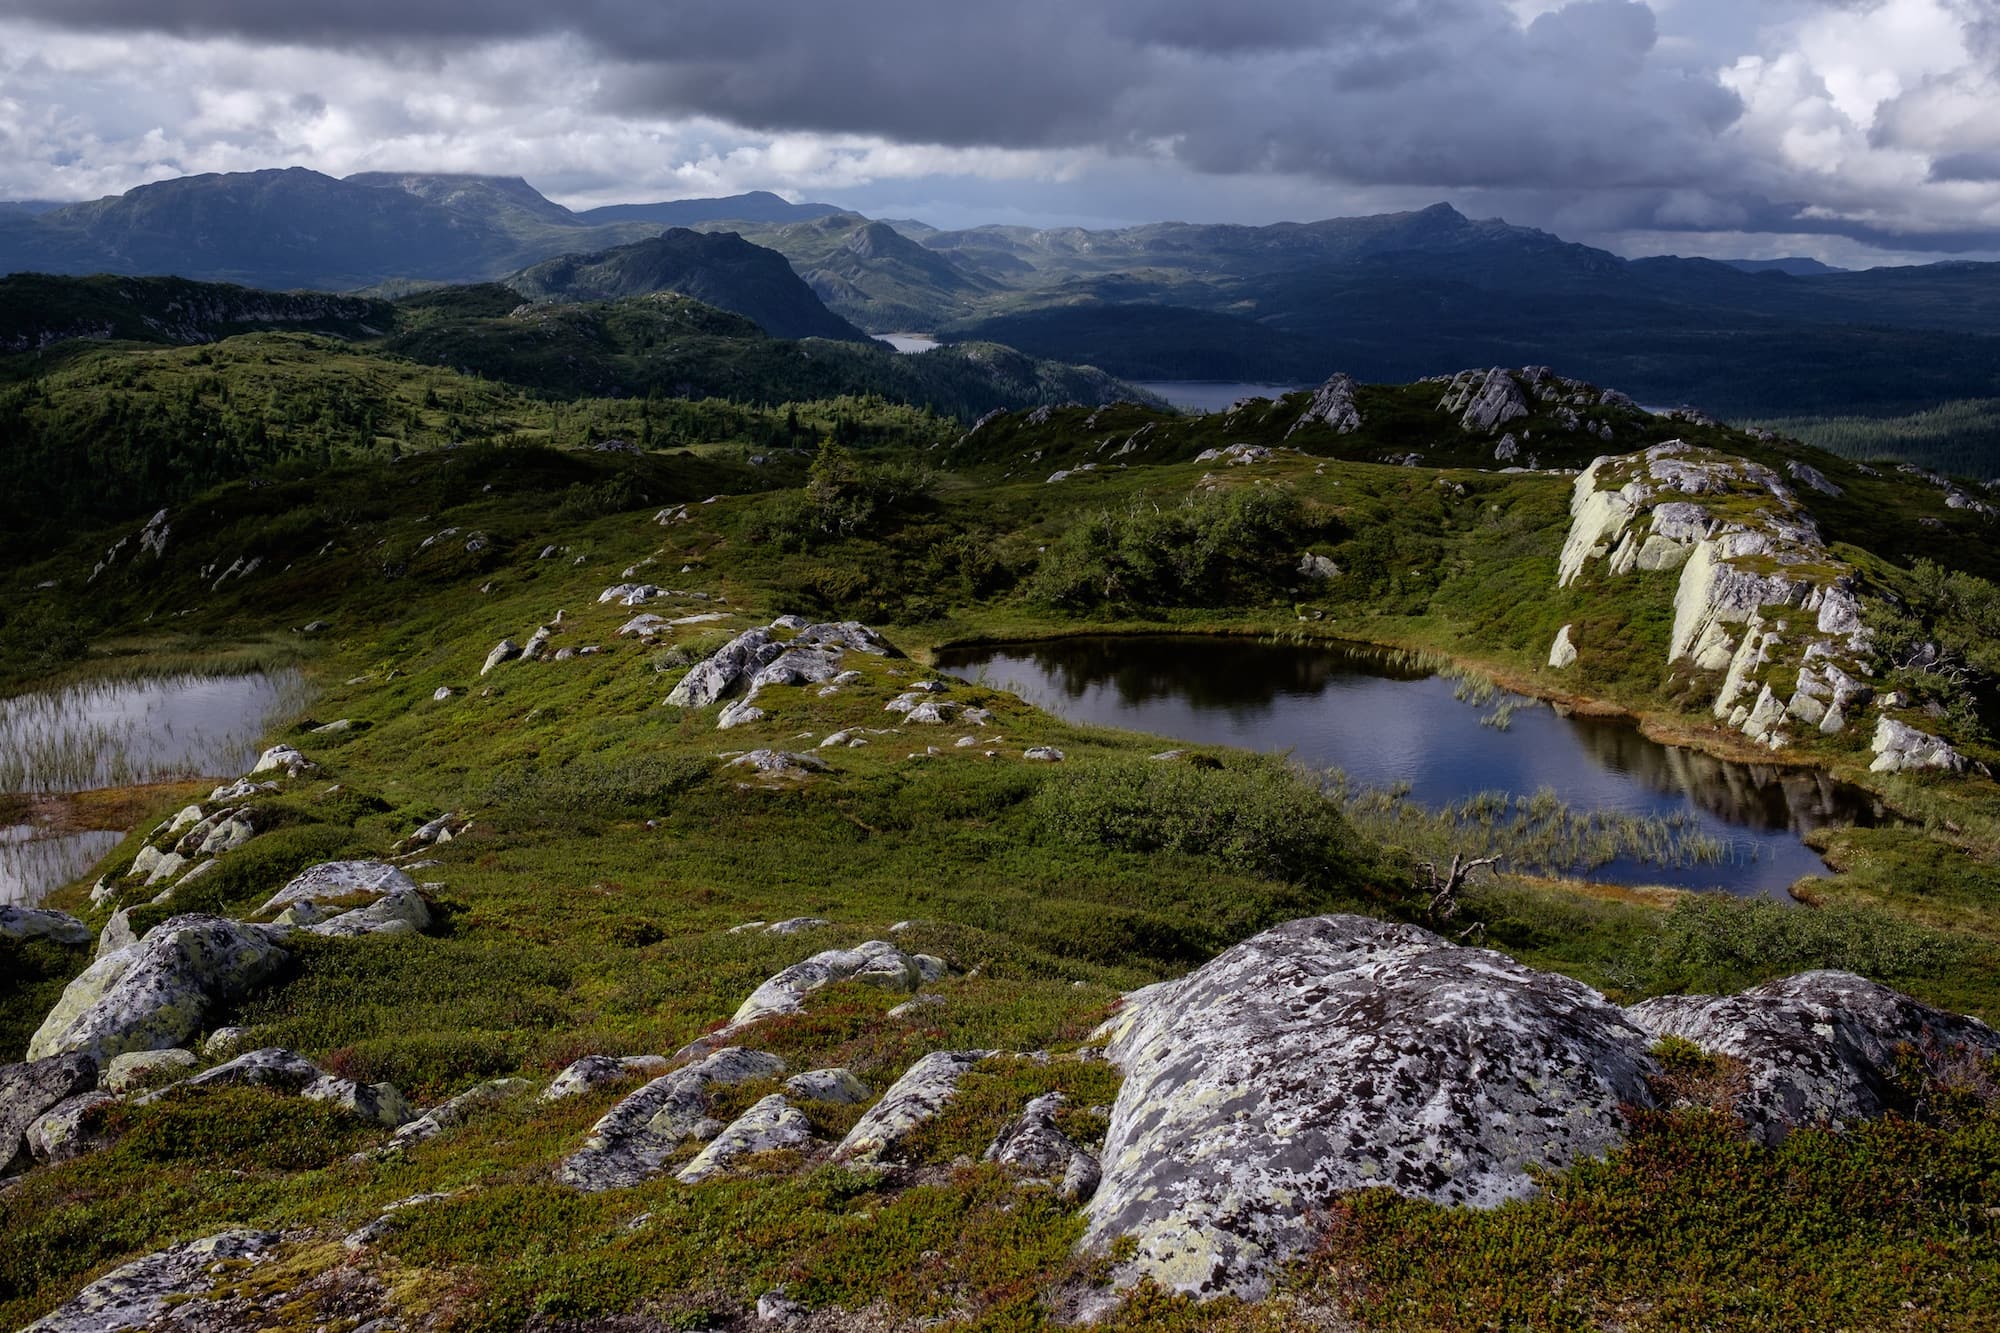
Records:
[[[296,671],[96,681],[0,699],[0,903],[60,889],[124,833],[78,829],[62,797],[248,773],[258,739],[304,709]]]

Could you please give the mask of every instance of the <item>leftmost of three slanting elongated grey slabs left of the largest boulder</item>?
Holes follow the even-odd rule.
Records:
[[[638,1185],[658,1175],[688,1139],[710,1139],[722,1131],[722,1123],[708,1115],[710,1087],[782,1073],[784,1061],[776,1055],[724,1047],[660,1075],[592,1125],[584,1147],[556,1167],[556,1179],[582,1191]]]

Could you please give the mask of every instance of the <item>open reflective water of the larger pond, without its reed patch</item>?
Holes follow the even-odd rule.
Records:
[[[1578,811],[1692,815],[1702,833],[1736,851],[1728,865],[1614,861],[1592,871],[1614,883],[1782,895],[1826,869],[1802,833],[1880,817],[1866,793],[1822,775],[1722,763],[1656,745],[1624,723],[1520,707],[1508,731],[1482,727],[1494,705],[1460,703],[1454,683],[1366,650],[1070,638],[944,654],[940,666],[1076,723],[1290,753],[1312,769],[1344,771],[1356,787],[1408,783],[1410,797],[1428,807],[1548,787]]]

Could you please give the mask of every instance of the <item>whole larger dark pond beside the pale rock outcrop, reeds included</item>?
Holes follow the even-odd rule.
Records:
[[[1524,873],[1790,901],[1826,873],[1802,835],[1894,819],[1824,773],[1660,745],[1360,644],[1084,636],[954,648],[938,666],[1072,723],[1338,769],[1336,791],[1376,813],[1532,831],[1492,847]]]

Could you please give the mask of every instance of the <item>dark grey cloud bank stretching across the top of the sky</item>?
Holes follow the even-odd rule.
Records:
[[[1736,112],[1652,60],[1652,10],[1582,0],[12,0],[94,30],[426,46],[566,32],[600,104],[996,148],[1166,142],[1200,170],[1454,186],[1706,166]],[[1644,142],[1644,152],[1634,152]]]

